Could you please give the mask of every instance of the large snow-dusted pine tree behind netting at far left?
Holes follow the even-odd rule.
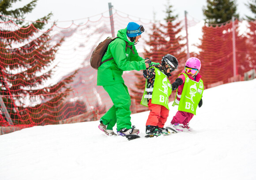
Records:
[[[62,40],[54,43],[50,30],[39,31],[44,29],[52,13],[31,25],[23,21],[37,0],[11,10],[16,1],[0,1],[0,95],[15,125],[56,123],[60,112],[51,108],[57,107],[67,96],[70,90],[67,82],[71,82],[73,75],[51,86],[45,83],[56,68],[53,62]]]

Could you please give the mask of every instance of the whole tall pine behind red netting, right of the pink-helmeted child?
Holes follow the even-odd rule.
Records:
[[[205,85],[212,86],[210,84],[218,81],[227,83],[234,73],[241,72],[239,63],[233,72],[233,28],[229,21],[232,17],[239,18],[236,10],[235,0],[207,0],[207,8],[203,8],[205,22],[210,24],[209,27],[203,27],[203,38],[199,46],[202,63],[200,74],[203,75]],[[241,36],[238,36],[238,22],[233,23],[236,43],[242,42]],[[244,59],[245,54],[239,54],[237,48],[239,46],[236,46],[236,59]]]

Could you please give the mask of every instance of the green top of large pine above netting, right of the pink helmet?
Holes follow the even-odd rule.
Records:
[[[230,21],[232,16],[239,18],[236,11],[235,0],[207,0],[207,7],[203,7],[205,22],[209,24],[221,24]]]

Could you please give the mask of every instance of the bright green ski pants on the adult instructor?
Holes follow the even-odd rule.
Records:
[[[103,124],[108,125],[108,130],[113,130],[113,126],[117,123],[117,130],[123,128],[131,129],[131,97],[127,86],[124,83],[113,84],[110,86],[103,86],[105,91],[109,94],[113,106],[109,109],[101,120]]]

